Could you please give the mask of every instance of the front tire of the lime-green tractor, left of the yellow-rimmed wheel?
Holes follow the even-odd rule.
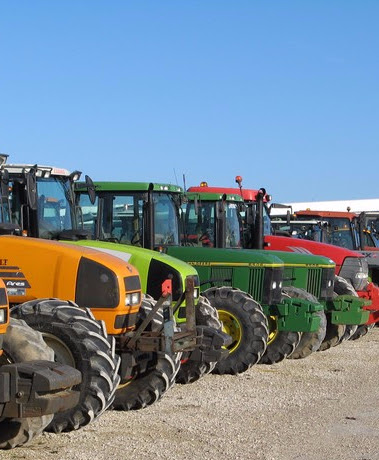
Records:
[[[222,322],[218,317],[217,310],[212,307],[206,297],[200,296],[195,313],[197,326],[209,326],[217,330],[222,330]],[[183,355],[182,364],[176,376],[176,382],[181,384],[196,382],[204,375],[212,372],[216,364],[216,361],[211,363],[191,361],[190,354]]]

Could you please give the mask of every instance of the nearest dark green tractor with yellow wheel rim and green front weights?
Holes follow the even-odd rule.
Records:
[[[219,221],[225,217],[224,208],[215,205],[213,223],[204,222],[210,224],[213,234],[198,234],[181,228],[185,196],[180,187],[96,182],[95,189],[97,198],[91,203],[85,184],[77,185],[83,226],[93,238],[158,250],[196,267],[202,295],[218,310],[224,330],[233,338],[228,358],[218,363],[214,372],[239,373],[257,362],[279,362],[292,354],[302,333],[317,333],[319,340],[323,339],[322,305],[313,297],[294,298],[283,293],[284,264],[277,255],[205,247],[214,245],[209,240],[215,234],[221,238],[224,230]],[[199,201],[194,203],[198,225],[202,212]],[[235,202],[230,209],[236,206]],[[303,258],[303,272],[308,265],[318,267],[319,277],[314,281],[318,289],[332,291],[334,264],[325,258]]]

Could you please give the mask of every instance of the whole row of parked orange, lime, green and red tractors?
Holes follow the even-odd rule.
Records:
[[[374,251],[299,237],[236,182],[81,181],[0,156],[1,448],[379,321]]]

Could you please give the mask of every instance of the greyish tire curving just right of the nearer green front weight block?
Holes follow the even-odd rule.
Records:
[[[283,288],[283,292],[292,298],[305,299],[309,300],[310,302],[318,303],[318,300],[314,295],[310,294],[304,289],[297,288],[295,286],[286,286]],[[315,315],[320,317],[320,327],[318,331],[303,332],[301,334],[300,342],[296,346],[293,353],[288,356],[289,359],[304,359],[315,351],[319,350],[321,343],[326,335],[327,320],[323,310],[316,312]]]

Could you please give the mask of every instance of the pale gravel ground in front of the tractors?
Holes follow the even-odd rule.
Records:
[[[159,403],[43,434],[0,459],[379,460],[379,328],[304,360],[176,385]]]

